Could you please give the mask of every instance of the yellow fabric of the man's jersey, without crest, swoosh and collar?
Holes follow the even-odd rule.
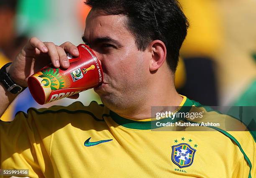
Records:
[[[243,153],[221,132],[130,129],[118,125],[109,114],[108,108],[96,102],[20,112],[13,122],[0,122],[0,168],[29,169],[33,178],[248,177],[250,168]],[[254,177],[253,138],[248,132],[229,133],[250,159]],[[90,142],[113,140],[85,147],[90,137]],[[196,149],[194,162],[187,168],[171,160],[172,146],[179,143]]]

